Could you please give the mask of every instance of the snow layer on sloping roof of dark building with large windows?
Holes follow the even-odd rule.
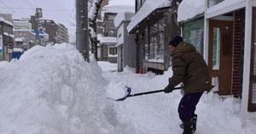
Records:
[[[165,8],[171,6],[169,0],[147,0],[143,3],[143,7],[139,9],[137,14],[131,19],[131,23],[127,26],[127,30],[130,32],[136,25],[143,21],[149,14],[151,14],[157,8]]]

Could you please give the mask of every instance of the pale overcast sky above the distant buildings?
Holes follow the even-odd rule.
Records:
[[[134,5],[135,0],[110,0],[112,5]],[[43,8],[43,18],[65,25],[75,41],[75,0],[0,0],[0,14],[13,14],[14,19],[30,18],[36,8]]]

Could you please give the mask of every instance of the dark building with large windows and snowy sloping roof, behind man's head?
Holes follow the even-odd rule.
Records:
[[[137,73],[163,74],[170,66],[167,44],[179,34],[171,4],[168,0],[136,1],[136,14],[127,29],[137,35]]]

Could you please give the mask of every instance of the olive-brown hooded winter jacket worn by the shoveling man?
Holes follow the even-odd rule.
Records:
[[[184,92],[210,91],[212,87],[209,70],[205,60],[195,47],[188,42],[180,42],[172,53],[171,87],[183,82]]]

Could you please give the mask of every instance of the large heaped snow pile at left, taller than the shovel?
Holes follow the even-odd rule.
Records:
[[[0,133],[111,133],[101,71],[67,44],[32,47],[20,60],[1,62]]]

